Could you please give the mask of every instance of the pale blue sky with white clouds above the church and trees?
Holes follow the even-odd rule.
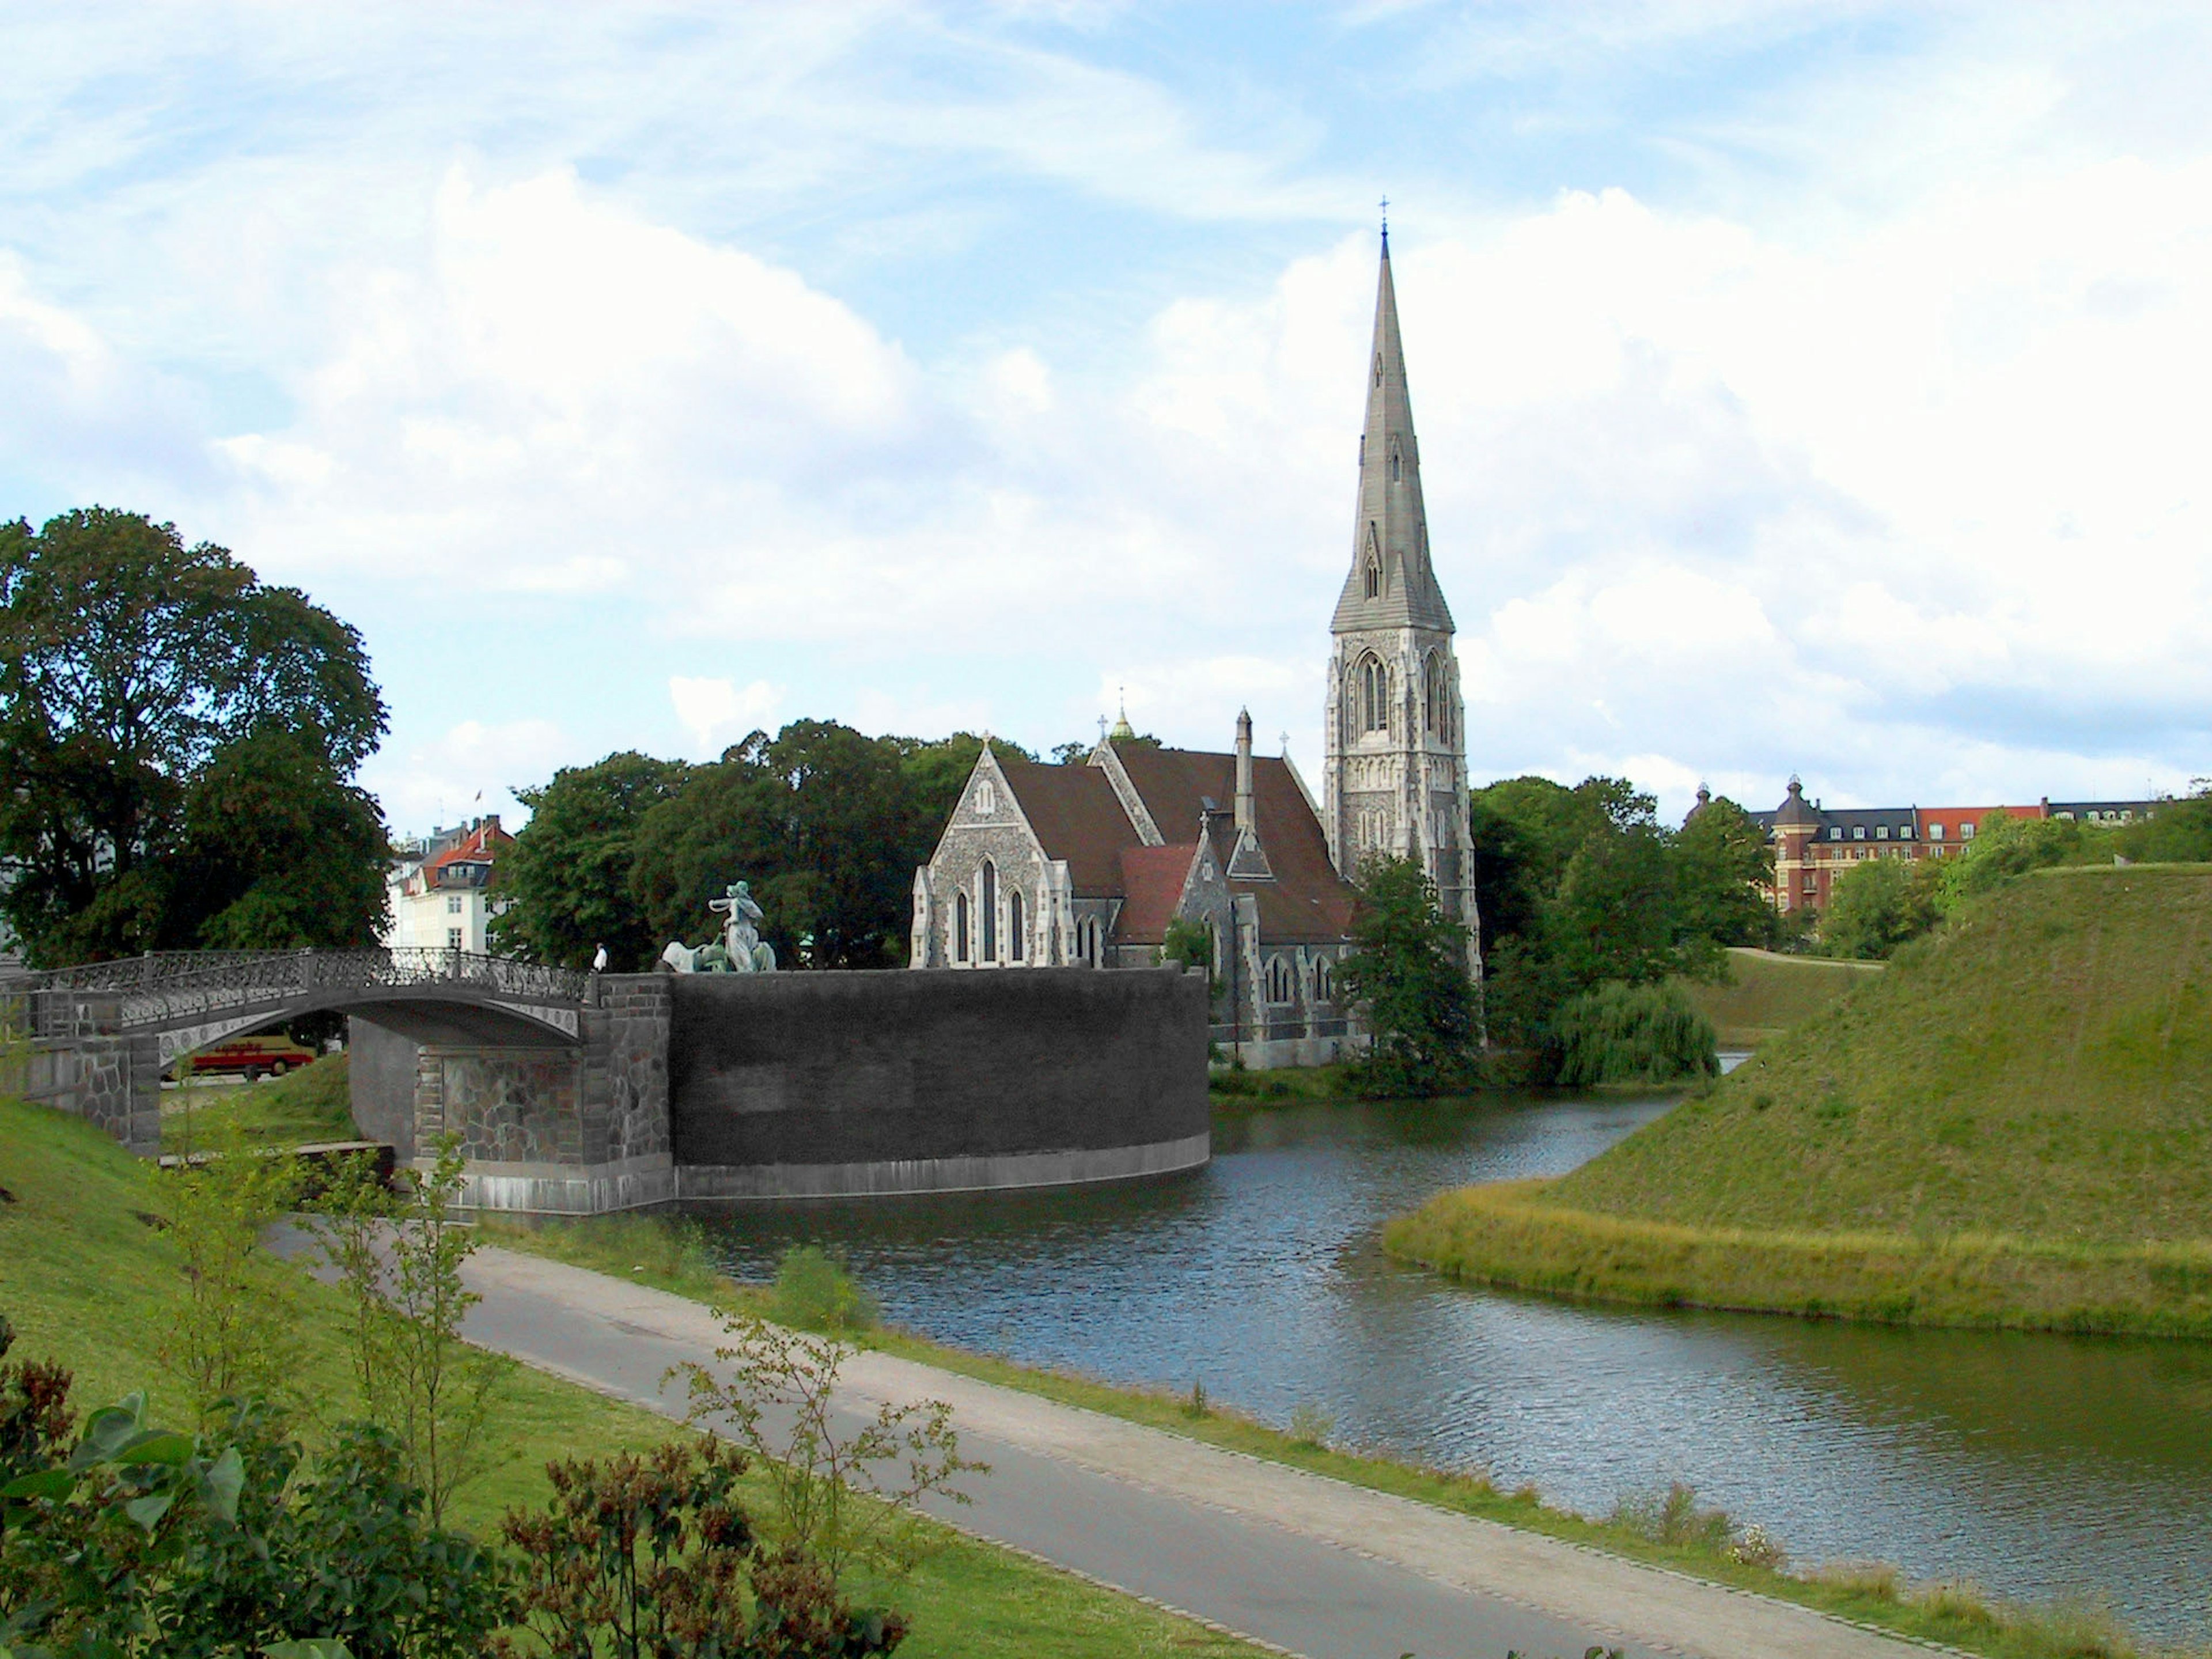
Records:
[[[1389,197],[1469,770],[2212,772],[2201,4],[0,0],[0,518],[361,628],[398,832],[752,728],[1318,787]]]

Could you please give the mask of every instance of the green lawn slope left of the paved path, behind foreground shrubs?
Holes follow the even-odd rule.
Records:
[[[159,1170],[84,1124],[0,1099],[0,1190],[7,1192],[0,1199],[0,1312],[18,1329],[13,1358],[58,1360],[77,1374],[80,1413],[148,1389],[157,1418],[181,1418],[181,1389],[161,1363],[161,1343],[177,1316],[179,1265],[153,1223],[164,1208],[159,1179]],[[307,1385],[325,1420],[310,1425],[310,1436],[345,1416],[352,1400],[338,1321],[338,1292],[301,1274],[299,1323],[316,1356]],[[672,1433],[679,1429],[666,1418],[520,1369],[493,1416],[500,1462],[460,1493],[453,1524],[491,1535],[504,1509],[546,1500],[549,1460],[646,1449]],[[765,1493],[757,1491],[754,1511],[768,1509]],[[891,1599],[914,1617],[900,1659],[1245,1659],[1259,1652],[949,1528],[940,1528],[940,1548]]]

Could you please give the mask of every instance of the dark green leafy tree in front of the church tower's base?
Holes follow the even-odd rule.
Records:
[[[1356,949],[1340,978],[1371,1033],[1363,1086],[1374,1095],[1467,1088],[1482,1040],[1467,929],[1444,916],[1436,883],[1411,858],[1369,860],[1358,889]]]

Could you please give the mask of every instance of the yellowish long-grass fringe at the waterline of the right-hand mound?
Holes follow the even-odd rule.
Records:
[[[1383,1245],[1469,1285],[1880,1325],[2212,1338],[2212,1243],[2051,1243],[1694,1228],[1546,1203],[1553,1181],[1440,1192]]]

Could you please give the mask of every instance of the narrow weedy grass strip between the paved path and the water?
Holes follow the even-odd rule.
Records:
[[[741,1307],[763,1316],[779,1312],[768,1285],[723,1276],[714,1267],[703,1232],[684,1217],[619,1214],[542,1225],[487,1221],[484,1228],[495,1243],[712,1307]],[[1533,1486],[1500,1491],[1478,1471],[1436,1469],[1332,1444],[1327,1431],[1287,1433],[1219,1402],[1194,1411],[1188,1396],[1119,1387],[1075,1371],[1024,1367],[991,1354],[945,1347],[898,1327],[860,1332],[852,1340],[1223,1451],[1241,1451],[1458,1515],[1588,1544],[1991,1659],[2152,1659],[2168,1652],[2137,1646],[2093,1608],[2022,1608],[1995,1601],[1969,1584],[1909,1584],[1885,1564],[1827,1564],[1790,1573],[1756,1559],[1736,1559],[1730,1551],[1736,1531],[1725,1517],[1710,1509],[1668,1504],[1659,1493],[1624,1502],[1613,1515],[1588,1517],[1546,1504]],[[2212,1659],[2212,1650],[2172,1652],[2174,1659]]]

